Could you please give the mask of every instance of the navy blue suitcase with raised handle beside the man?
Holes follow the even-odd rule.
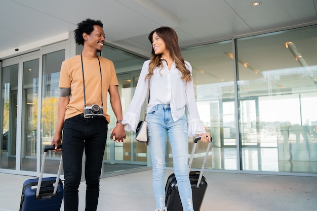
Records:
[[[61,148],[61,145],[59,145]],[[53,150],[54,146],[45,146],[41,172],[39,177],[28,179],[23,183],[20,211],[59,211],[62,200],[64,187],[60,179],[62,168],[62,157],[58,168],[57,177],[43,178],[45,159],[47,151]],[[56,185],[57,184],[57,185]],[[40,188],[38,188],[40,187]]]

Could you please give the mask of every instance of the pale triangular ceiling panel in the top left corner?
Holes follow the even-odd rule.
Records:
[[[73,26],[52,16],[11,1],[0,4],[0,28],[4,31],[0,41],[5,49],[67,32]],[[5,21],[7,20],[7,21]],[[4,39],[9,36],[8,39]]]

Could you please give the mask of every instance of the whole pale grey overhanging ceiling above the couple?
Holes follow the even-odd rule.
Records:
[[[317,23],[317,0],[260,3],[253,7],[252,0],[1,0],[0,60],[59,41],[86,18],[103,22],[106,42],[145,57],[151,50],[147,36],[160,26],[174,28],[185,47]]]

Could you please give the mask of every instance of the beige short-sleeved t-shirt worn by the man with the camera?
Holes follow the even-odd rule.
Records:
[[[100,68],[97,58],[83,57],[86,105],[101,105],[101,87],[103,101],[103,115],[110,123],[107,114],[107,93],[110,85],[118,86],[114,65],[110,60],[98,56],[102,72],[102,86]],[[59,88],[70,88],[70,100],[66,107],[65,120],[84,113],[84,85],[81,55],[69,58],[62,63]]]

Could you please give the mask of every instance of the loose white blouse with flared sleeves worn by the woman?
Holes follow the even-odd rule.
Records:
[[[139,123],[142,104],[146,98],[150,60],[144,62],[134,96],[131,100],[127,113],[124,115],[123,123],[127,124],[125,130],[135,131]],[[185,61],[187,69],[191,72],[191,66]],[[150,81],[150,100],[147,105],[147,112],[157,104],[170,104],[174,121],[184,115],[185,105],[188,112],[188,136],[205,133],[206,130],[201,123],[197,104],[195,100],[192,80],[185,83],[181,79],[181,73],[176,68],[175,62],[171,70],[168,70],[166,61],[163,61],[163,68],[156,67]]]

